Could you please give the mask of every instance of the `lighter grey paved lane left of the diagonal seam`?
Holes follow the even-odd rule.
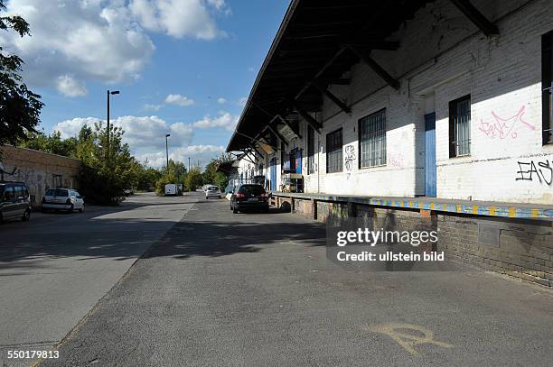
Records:
[[[29,365],[8,360],[7,351],[60,343],[195,199],[144,194],[117,207],[0,225],[0,364]]]

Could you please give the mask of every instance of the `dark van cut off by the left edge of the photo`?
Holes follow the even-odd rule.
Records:
[[[23,182],[0,182],[0,223],[5,219],[31,219],[31,196]]]

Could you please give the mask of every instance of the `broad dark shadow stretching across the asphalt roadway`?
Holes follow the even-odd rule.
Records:
[[[85,214],[75,213],[75,216],[86,216],[89,220],[141,206],[182,206],[185,203],[193,203],[194,207],[208,204],[209,207],[209,204],[217,204],[220,201],[200,200],[166,204],[127,202],[117,207],[96,206],[95,210],[87,211]],[[271,215],[268,216],[257,212],[233,215],[227,206],[219,206],[210,214],[202,214],[209,219],[212,219],[210,216],[217,216],[217,221],[182,221],[174,225],[161,239],[156,239],[156,231],[150,230],[163,222],[154,217],[102,219],[101,227],[90,227],[87,225],[88,220],[81,224],[68,223],[68,231],[57,228],[51,230],[48,220],[40,226],[33,226],[33,222],[27,222],[21,224],[29,225],[26,229],[17,229],[18,225],[15,230],[12,227],[0,234],[0,268],[13,271],[36,270],[43,268],[42,258],[79,257],[80,261],[112,258],[124,261],[136,257],[137,247],[152,241],[155,243],[143,257],[216,257],[237,252],[258,252],[262,246],[287,241],[301,241],[308,246],[325,245],[325,228],[322,224],[297,223],[292,216],[271,219],[274,223],[267,223],[267,218],[280,213],[282,210],[273,207],[270,210]],[[129,236],[129,231],[141,234]],[[86,241],[83,241],[83,233],[86,235]],[[5,272],[0,276],[7,275],[15,274]]]

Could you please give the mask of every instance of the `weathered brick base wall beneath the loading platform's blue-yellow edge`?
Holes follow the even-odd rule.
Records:
[[[364,218],[370,229],[436,230],[433,251],[489,271],[553,287],[553,221],[441,213],[314,198],[273,197],[273,205],[323,223]]]

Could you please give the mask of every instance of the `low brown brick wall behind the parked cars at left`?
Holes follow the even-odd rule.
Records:
[[[29,187],[33,207],[41,205],[48,188],[79,188],[80,161],[32,149],[2,146],[6,181],[23,181]]]

